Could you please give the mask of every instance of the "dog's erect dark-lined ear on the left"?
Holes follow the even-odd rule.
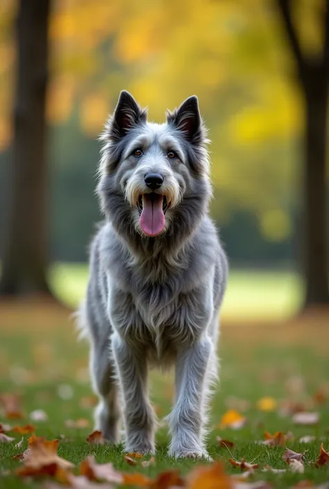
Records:
[[[122,90],[111,119],[110,135],[113,139],[120,139],[141,121],[146,121],[146,111],[140,108],[129,92]]]

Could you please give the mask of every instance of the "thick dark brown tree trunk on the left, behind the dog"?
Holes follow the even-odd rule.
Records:
[[[47,271],[48,22],[50,0],[19,0],[12,193],[2,295],[50,295]]]

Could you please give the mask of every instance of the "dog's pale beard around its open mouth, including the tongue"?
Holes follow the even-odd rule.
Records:
[[[146,191],[144,185],[139,185],[130,179],[126,185],[125,197],[139,214],[137,228],[149,237],[162,234],[167,229],[167,209],[180,203],[180,187],[173,179],[174,185],[164,185],[158,192]],[[136,221],[135,221],[136,222]]]

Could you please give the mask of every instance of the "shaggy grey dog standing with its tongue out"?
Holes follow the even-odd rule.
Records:
[[[208,216],[205,128],[191,96],[163,124],[121,92],[101,137],[97,193],[106,216],[92,241],[81,309],[99,395],[96,429],[127,452],[155,451],[152,366],[176,369],[169,455],[208,457],[205,424],[217,376],[227,262]]]

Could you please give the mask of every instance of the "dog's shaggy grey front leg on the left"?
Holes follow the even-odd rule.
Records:
[[[112,334],[112,352],[124,401],[126,452],[154,452],[154,413],[147,393],[145,354],[116,332]]]

